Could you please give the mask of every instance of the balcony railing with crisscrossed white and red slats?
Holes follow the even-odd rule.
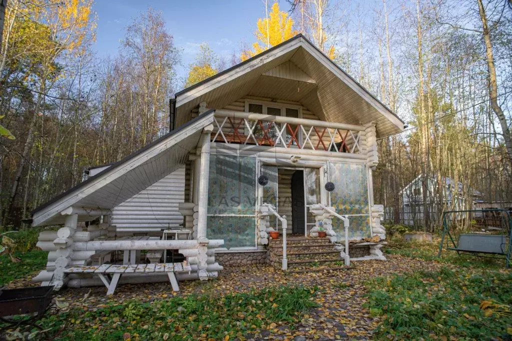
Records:
[[[365,130],[358,125],[232,110],[216,110],[214,124],[214,142],[352,154],[362,153]]]

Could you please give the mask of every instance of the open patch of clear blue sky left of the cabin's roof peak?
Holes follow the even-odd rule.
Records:
[[[269,4],[272,2],[269,1]],[[282,1],[284,10],[288,5]],[[199,44],[207,41],[219,56],[231,56],[240,41],[251,43],[259,17],[265,15],[262,0],[96,0],[98,15],[95,50],[100,57],[115,55],[124,28],[148,7],[162,12],[167,31],[182,51],[178,76],[185,77]]]

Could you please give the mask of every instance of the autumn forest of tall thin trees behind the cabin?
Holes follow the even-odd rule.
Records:
[[[19,227],[33,208],[79,183],[84,169],[118,161],[168,132],[168,101],[178,90],[298,33],[408,124],[378,141],[374,197],[389,220],[401,222],[402,189],[414,179],[423,191],[411,200],[429,213],[416,225],[425,230],[455,206],[449,192],[466,209],[475,199],[512,200],[512,0],[263,0],[261,18],[247,18],[257,20],[250,41],[241,39],[229,56],[205,41],[189,65],[175,44],[179,32],[166,29],[172,19],[157,9],[137,15],[118,52],[104,57],[94,50],[93,0],[7,4],[4,228]],[[183,66],[186,77],[177,74]]]

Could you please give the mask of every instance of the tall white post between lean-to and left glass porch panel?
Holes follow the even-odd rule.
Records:
[[[208,180],[210,173],[210,139],[214,125],[203,130],[201,142],[201,167],[199,178],[199,214],[197,220],[197,238],[206,237],[206,214],[208,213]]]

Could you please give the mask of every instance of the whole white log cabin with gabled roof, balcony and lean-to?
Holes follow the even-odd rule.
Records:
[[[115,288],[119,276],[101,266],[119,252],[119,283],[166,280],[168,265],[144,270],[141,251],[158,264],[182,257],[177,278],[201,280],[233,264],[385,260],[372,170],[377,138],[404,123],[304,36],[185,88],[170,106],[169,133],[32,212],[34,226],[63,225],[39,236],[49,256],[34,281]]]

